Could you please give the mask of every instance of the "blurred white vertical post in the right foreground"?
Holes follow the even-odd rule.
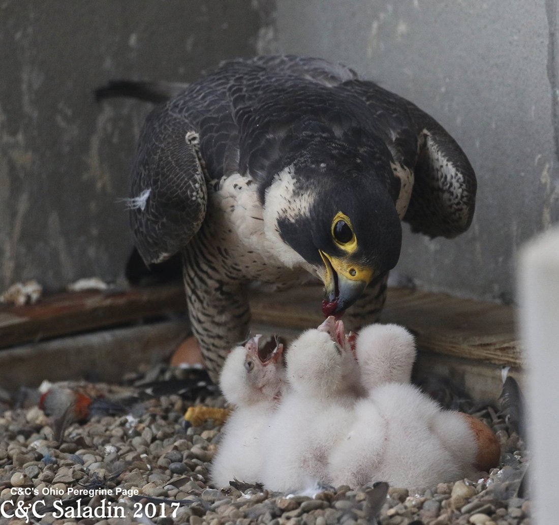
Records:
[[[523,249],[519,265],[520,335],[528,365],[530,486],[534,520],[557,523],[559,474],[559,228]]]

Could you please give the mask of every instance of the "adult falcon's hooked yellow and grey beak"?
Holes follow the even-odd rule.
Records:
[[[324,262],[323,282],[326,299],[322,303],[322,313],[329,315],[342,314],[361,296],[363,290],[371,282],[372,268],[357,266],[344,258],[329,256],[319,250]]]

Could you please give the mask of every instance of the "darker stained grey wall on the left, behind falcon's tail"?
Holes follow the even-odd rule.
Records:
[[[189,81],[253,55],[262,16],[250,0],[1,3],[0,291],[122,275],[132,242],[117,198],[149,106],[97,104],[93,89],[111,78]]]

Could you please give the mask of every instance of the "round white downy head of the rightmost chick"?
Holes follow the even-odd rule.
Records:
[[[371,324],[357,336],[356,355],[366,390],[389,382],[409,383],[415,339],[397,324]]]

